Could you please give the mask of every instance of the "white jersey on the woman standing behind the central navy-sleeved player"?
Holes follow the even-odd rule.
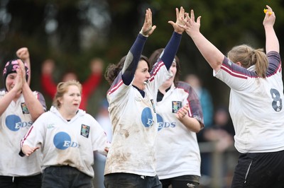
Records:
[[[195,132],[190,131],[177,118],[178,110],[189,105],[189,117],[203,124],[200,100],[189,84],[179,82],[170,87],[163,100],[157,103],[158,136],[157,174],[160,180],[181,175],[200,176],[200,148]]]

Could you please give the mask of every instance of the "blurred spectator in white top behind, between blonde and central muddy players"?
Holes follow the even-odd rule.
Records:
[[[109,102],[107,99],[102,100],[99,106],[99,112],[96,116],[97,122],[102,126],[102,129],[107,134],[107,141],[111,143],[112,139],[112,127],[111,127],[111,119],[109,118]],[[106,156],[101,153],[94,153],[94,187],[96,188],[104,188],[104,166],[106,163]]]

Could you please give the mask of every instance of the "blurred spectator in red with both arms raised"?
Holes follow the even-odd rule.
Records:
[[[46,59],[43,61],[42,74],[41,74],[41,86],[45,94],[50,98],[54,98],[56,93],[57,83],[53,81],[53,71],[55,69],[55,61],[53,59]],[[90,69],[92,74],[87,78],[87,81],[82,82],[82,102],[80,109],[87,110],[87,100],[94,90],[99,86],[102,80],[103,61],[99,58],[94,58],[90,62]],[[78,81],[77,74],[74,72],[67,72],[62,76],[62,81]]]

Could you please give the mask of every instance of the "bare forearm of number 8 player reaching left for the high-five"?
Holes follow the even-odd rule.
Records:
[[[201,33],[197,33],[191,37],[204,59],[209,63],[212,69],[218,71],[224,60],[224,54],[222,54],[222,52],[220,52],[219,49],[209,42],[209,40]]]

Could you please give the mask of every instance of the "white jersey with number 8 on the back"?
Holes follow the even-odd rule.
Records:
[[[226,57],[214,76],[231,88],[229,112],[240,153],[284,150],[284,97],[280,54],[269,52],[266,78]]]

